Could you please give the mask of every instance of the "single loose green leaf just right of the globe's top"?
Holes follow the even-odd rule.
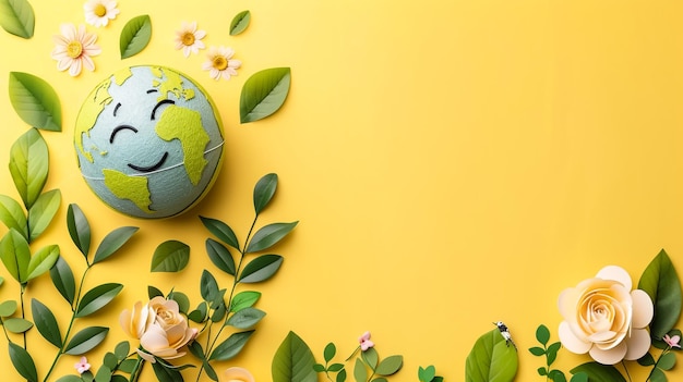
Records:
[[[289,94],[289,67],[272,67],[254,73],[242,86],[240,122],[262,120],[276,112]]]

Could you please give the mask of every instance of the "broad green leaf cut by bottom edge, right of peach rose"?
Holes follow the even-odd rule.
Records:
[[[289,332],[273,357],[273,382],[317,382],[315,358],[295,332]]]

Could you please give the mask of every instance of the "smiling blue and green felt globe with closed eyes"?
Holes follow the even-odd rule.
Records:
[[[169,218],[196,205],[218,174],[223,125],[204,89],[164,66],[132,66],[87,96],[74,132],[81,174],[115,210]]]

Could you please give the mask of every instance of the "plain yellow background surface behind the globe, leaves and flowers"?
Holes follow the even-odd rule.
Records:
[[[255,286],[266,318],[244,352],[221,363],[247,367],[257,381],[271,380],[273,355],[290,330],[319,360],[331,341],[346,358],[370,330],[381,357],[405,357],[392,381],[417,381],[418,366],[428,365],[462,381],[476,338],[498,320],[519,346],[517,380],[542,380],[536,374],[542,359],[526,349],[536,345],[540,323],[556,338],[563,288],[607,264],[637,281],[661,248],[683,270],[678,1],[119,2],[121,14],[109,26],[88,26],[103,53],[94,73],[76,78],[57,71],[50,51],[60,23],[84,23],[82,1],[33,0],[34,38],[0,33],[0,161],[8,163],[11,144],[28,128],[10,104],[8,72],[46,79],[62,102],[63,131],[43,136],[50,150],[46,189],[60,188],[63,202],[34,248],[58,243],[82,272],[65,226],[72,202],[89,219],[94,246],[116,227],[141,227],[86,280],[86,287],[125,284],[103,315],[77,321],[111,326],[91,355],[94,367],[124,338],[119,311],[146,299],[147,285],[176,287],[196,304],[202,269],[219,273],[205,255],[209,234],[197,215],[220,219],[243,238],[252,187],[268,172],[280,183],[260,224],[300,223],[276,248],[285,256],[280,272]],[[252,23],[231,37],[229,22],[242,10],[251,10]],[[120,60],[121,28],[140,14],[152,17],[152,41]],[[189,59],[175,50],[182,21],[197,21],[207,46],[233,47],[243,61],[239,76],[215,82],[201,69],[206,50]],[[195,209],[170,220],[136,220],[106,207],[81,178],[72,147],[87,93],[118,69],[147,63],[197,81],[226,126],[217,183]],[[242,84],[273,66],[292,70],[284,108],[240,125]],[[2,169],[0,194],[19,198]],[[167,239],[191,246],[190,267],[149,273],[154,249]],[[0,299],[17,299],[16,283],[3,268],[0,275]],[[49,278],[27,296],[67,324],[65,303]],[[29,350],[44,375],[55,349],[33,332]],[[568,371],[585,360],[563,350],[559,366]],[[64,357],[57,375],[73,372],[75,361]],[[3,355],[3,380],[20,381],[8,362]],[[636,377],[639,369],[631,366]],[[145,372],[152,381],[151,368]]]

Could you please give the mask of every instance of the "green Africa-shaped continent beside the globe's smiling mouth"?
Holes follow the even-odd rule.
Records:
[[[202,180],[204,168],[208,163],[204,159],[204,148],[211,140],[202,125],[202,115],[197,111],[171,104],[164,109],[155,130],[156,134],[164,140],[180,140],[185,172],[190,182],[196,186]]]

